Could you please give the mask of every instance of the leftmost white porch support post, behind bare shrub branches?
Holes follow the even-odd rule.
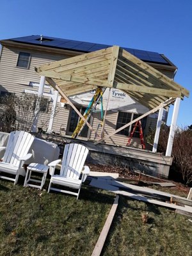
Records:
[[[31,132],[36,132],[36,126],[38,123],[38,116],[39,116],[39,111],[40,111],[40,100],[41,97],[44,93],[44,85],[45,85],[45,77],[41,76],[40,78],[40,84],[39,84],[39,88],[38,88],[38,99],[36,101],[36,106],[35,106],[35,118],[33,120],[33,125],[31,127]]]

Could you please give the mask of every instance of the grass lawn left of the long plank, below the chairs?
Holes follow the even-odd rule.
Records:
[[[83,187],[76,200],[0,180],[0,255],[91,255],[113,198]]]

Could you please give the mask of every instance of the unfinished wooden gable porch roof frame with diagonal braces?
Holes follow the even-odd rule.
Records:
[[[42,65],[35,70],[40,76],[45,76],[92,131],[92,126],[68,99],[69,96],[96,90],[97,86],[116,88],[150,109],[139,119],[172,104],[176,98],[189,96],[186,88],[118,46]],[[124,128],[139,119],[124,125]],[[97,143],[102,140],[104,138]]]

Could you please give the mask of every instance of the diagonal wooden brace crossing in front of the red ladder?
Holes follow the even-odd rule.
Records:
[[[151,115],[153,113],[155,113],[157,110],[159,110],[160,108],[164,108],[165,106],[171,104],[175,99],[171,98],[166,100],[165,102],[162,102],[159,106],[157,106],[154,109],[151,109],[150,111],[148,111],[147,113],[139,116],[138,118],[132,120],[131,122],[129,122],[128,124],[125,124],[124,126],[120,127],[119,129],[117,129],[115,132],[111,132],[108,136],[106,136],[105,138],[101,138],[100,140],[96,141],[94,144],[97,145],[98,143],[100,143],[103,140],[106,140],[108,138],[110,138],[111,136],[113,136],[114,134],[116,134],[119,131],[122,131],[123,129],[125,129],[126,127],[128,127],[129,125],[134,124],[135,122],[141,120],[142,118],[144,118],[145,116]]]

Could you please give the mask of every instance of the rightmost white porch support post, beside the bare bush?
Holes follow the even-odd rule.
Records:
[[[172,115],[172,124],[170,126],[170,134],[169,134],[169,138],[168,138],[168,143],[167,143],[167,147],[166,147],[165,156],[171,156],[172,155],[173,139],[174,139],[174,136],[175,136],[175,129],[176,129],[176,125],[177,125],[179,105],[180,105],[180,98],[177,98],[175,100],[175,103],[174,103],[173,115]]]

